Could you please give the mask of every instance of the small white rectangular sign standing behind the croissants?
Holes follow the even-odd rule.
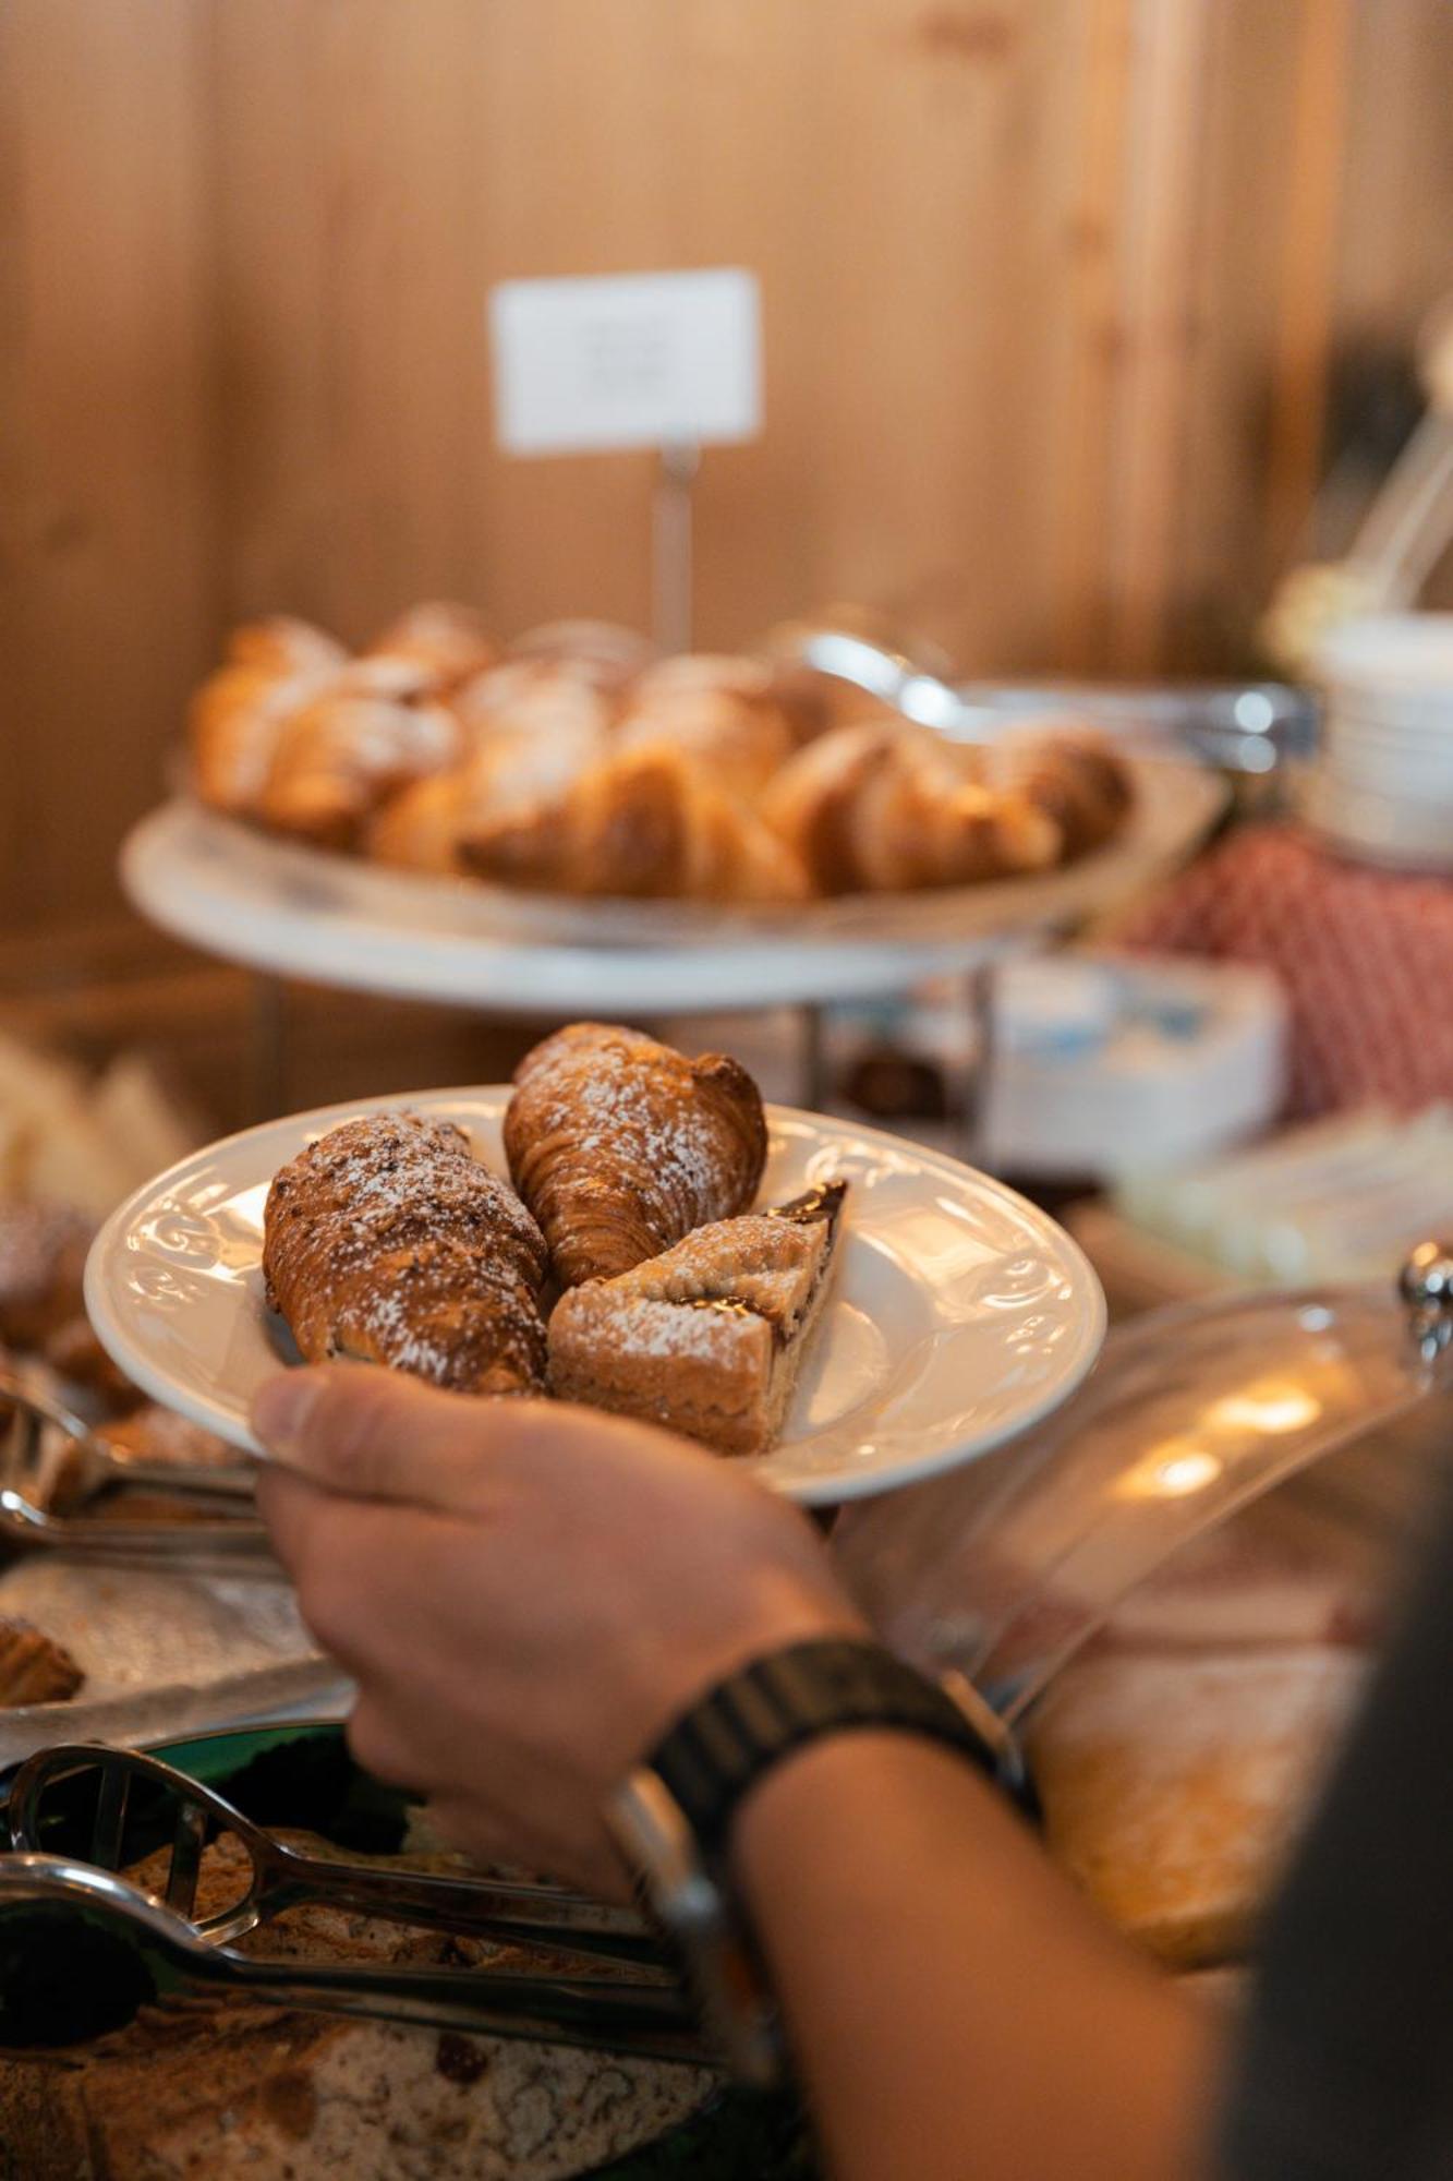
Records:
[[[761,430],[755,273],[502,281],[489,329],[508,454],[711,445]]]

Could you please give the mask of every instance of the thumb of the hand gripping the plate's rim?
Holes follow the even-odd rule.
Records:
[[[327,1363],[268,1378],[253,1431],[286,1468],[329,1492],[480,1511],[491,1498],[491,1453],[532,1429],[532,1418],[515,1413],[528,1407]]]

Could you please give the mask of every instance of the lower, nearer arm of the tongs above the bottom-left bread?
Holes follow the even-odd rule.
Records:
[[[15,2026],[24,2031],[24,1943],[15,1939],[9,1911],[22,1911],[26,1904],[55,1904],[83,1913],[92,1928],[98,1921],[109,1926],[131,1952],[159,1961],[185,1987],[223,1991],[266,2007],[415,2022],[489,2037],[526,2037],[537,2044],[589,2046],[694,2065],[711,2065],[716,2057],[696,2028],[689,2002],[672,1985],[511,1967],[253,1961],[227,1945],[199,1939],[175,1908],[113,1871],[41,1854],[0,1856],[0,1945],[7,1950],[9,1972],[0,1989],[0,2035],[9,2004],[15,2004]],[[37,1928],[31,1943],[37,1948],[37,1965],[46,1959],[52,1969],[55,1928]],[[2,2041],[15,2039],[2,2037]]]

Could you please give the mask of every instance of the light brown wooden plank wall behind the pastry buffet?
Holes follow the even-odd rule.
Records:
[[[504,462],[484,290],[742,262],[698,626],[1246,654],[1329,345],[1453,286],[1446,0],[7,0],[0,901],[113,907],[223,628],[646,613],[648,465]]]

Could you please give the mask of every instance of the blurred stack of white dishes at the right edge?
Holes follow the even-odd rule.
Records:
[[[1326,715],[1302,814],[1377,864],[1453,870],[1453,613],[1383,613],[1331,630]]]

